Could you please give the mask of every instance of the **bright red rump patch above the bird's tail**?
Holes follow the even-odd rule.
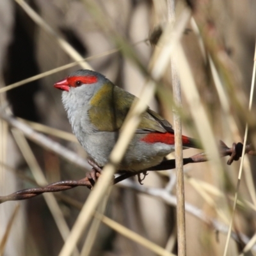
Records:
[[[160,132],[152,132],[148,133],[141,141],[145,141],[147,143],[165,143],[168,145],[174,145],[174,134],[170,132],[160,133]],[[189,144],[189,138],[182,135],[182,143],[183,145]]]

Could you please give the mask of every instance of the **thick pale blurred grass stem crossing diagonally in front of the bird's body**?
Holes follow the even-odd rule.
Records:
[[[187,15],[186,15],[187,13]],[[154,54],[154,61],[151,62],[150,65],[150,74],[155,79],[158,80],[162,75],[166,66],[168,65],[168,61],[170,60],[170,53],[173,50],[173,44],[175,44],[173,39],[180,38],[182,31],[184,31],[184,26],[186,26],[186,22],[189,19],[189,12],[184,12],[184,15],[179,20],[179,26],[177,28],[182,29],[172,29],[170,26],[166,28],[163,35],[161,36],[159,42],[164,42],[165,44],[161,45],[160,49],[157,49],[157,52]],[[170,31],[175,36],[170,36]],[[162,39],[164,38],[164,39]],[[172,45],[172,47],[170,47]],[[166,51],[167,49],[167,51]],[[159,68],[161,67],[161,68]],[[127,117],[125,118],[124,125],[122,127],[122,132],[120,133],[120,137],[116,142],[115,147],[113,148],[110,156],[109,156],[109,163],[104,166],[102,175],[95,185],[92,193],[88,196],[83,208],[79,216],[77,217],[77,221],[74,224],[74,227],[71,230],[70,237],[68,238],[67,242],[64,244],[63,248],[59,256],[69,256],[72,252],[75,244],[81,237],[84,228],[88,225],[90,219],[92,218],[93,211],[95,211],[97,205],[100,202],[100,199],[106,192],[115,173],[115,168],[117,164],[122,160],[122,157],[125,154],[125,150],[129,145],[129,141],[131,141],[134,132],[136,131],[136,127],[140,124],[140,115],[147,109],[148,102],[154,95],[155,90],[155,83],[152,80],[149,80],[147,84],[145,84],[143,91],[141,92],[140,100],[134,102],[131,110],[129,111]]]

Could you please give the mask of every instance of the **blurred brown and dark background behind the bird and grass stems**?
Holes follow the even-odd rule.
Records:
[[[25,2],[28,8],[23,3],[23,0],[0,1],[0,88],[74,61],[72,55],[61,47],[60,40],[56,40],[45,26],[36,23],[35,17],[29,16],[29,12],[34,10],[50,30],[56,31],[77,53],[83,58],[90,57],[88,63],[94,70],[134,95],[140,95],[145,83],[141,67],[147,69],[152,52],[158,47],[157,39],[168,20],[166,0],[30,0]],[[243,142],[247,121],[250,125],[248,141],[254,143],[255,116],[248,115],[247,109],[255,51],[256,2],[188,0],[185,3],[177,0],[177,17],[187,4],[191,20],[186,25],[181,42],[214,139],[223,140],[228,147],[233,142]],[[118,40],[120,38],[122,40]],[[131,47],[139,63],[123,54],[120,47]],[[224,102],[212,75],[211,60],[227,96]],[[0,104],[2,109],[10,107],[14,116],[32,122],[28,125],[33,129],[39,129],[85,158],[83,148],[72,134],[60,138],[47,129],[52,127],[71,132],[61,104],[61,92],[52,85],[79,68],[81,66],[77,64],[3,92]],[[182,103],[182,133],[198,137],[191,106],[184,95]],[[164,73],[150,108],[173,123],[170,69]],[[36,126],[35,123],[46,126]],[[0,120],[0,132],[0,195],[37,187],[33,168],[42,170],[47,183],[84,177],[82,168],[26,140],[22,133],[3,120]],[[198,152],[189,149],[184,156],[193,156]],[[239,171],[239,163],[227,166],[226,162],[227,157],[221,159],[221,170],[214,169],[211,162],[184,166],[186,202],[194,207],[195,212],[197,209],[207,218],[220,221],[223,227],[227,227],[232,214]],[[248,238],[255,234],[256,227],[253,166],[253,157],[246,157],[239,189],[240,203],[233,226],[234,232],[241,232]],[[131,180],[140,186],[137,179]],[[164,189],[167,185],[171,188],[170,195],[175,196],[174,171],[150,172],[143,181],[145,188]],[[89,189],[82,187],[54,194],[59,209],[55,210],[61,212],[61,220],[66,221],[67,227],[71,228],[76,221],[89,193]],[[58,255],[64,243],[60,232],[63,226],[57,221],[58,214],[53,217],[54,207],[45,200],[41,195],[0,205],[0,249],[3,255]],[[11,223],[17,205],[19,209]],[[177,255],[175,212],[175,206],[164,202],[161,196],[143,194],[129,186],[119,185],[113,187],[105,213]],[[199,213],[197,216],[196,213],[186,213],[187,255],[223,255],[227,230],[216,230],[202,219]],[[8,223],[11,223],[9,229]],[[10,232],[7,234],[6,230]],[[88,242],[88,230],[77,244],[74,255],[156,255],[106,224],[100,224],[93,243]],[[87,248],[92,246],[91,250],[82,249],[85,241],[90,244]],[[240,255],[245,245],[239,236],[237,241],[231,239],[227,255]],[[79,253],[81,250],[83,253]],[[244,255],[256,255],[256,251],[249,249]]]

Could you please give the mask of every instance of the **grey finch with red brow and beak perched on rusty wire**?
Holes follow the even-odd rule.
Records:
[[[104,166],[136,97],[91,70],[77,70],[54,87],[63,90],[63,106],[77,140],[92,161]],[[198,148],[186,136],[182,143],[184,148]],[[173,151],[172,125],[148,108],[118,170],[140,172],[161,163]]]

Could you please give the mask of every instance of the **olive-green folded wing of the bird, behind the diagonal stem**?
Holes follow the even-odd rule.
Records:
[[[120,130],[134,99],[134,95],[113,83],[104,84],[90,100],[88,115],[92,124],[98,131]],[[136,132],[166,132],[168,129],[172,129],[172,125],[156,112],[147,109],[141,116]]]

